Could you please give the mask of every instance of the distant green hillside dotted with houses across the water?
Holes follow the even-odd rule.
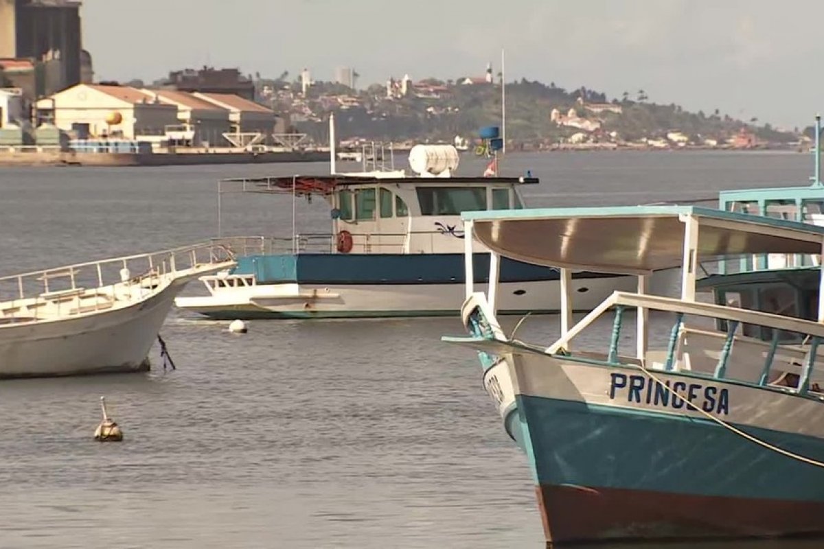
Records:
[[[328,138],[325,120],[335,112],[340,137],[349,140],[447,142],[470,140],[478,129],[499,125],[501,83],[484,77],[414,81],[389,78],[363,90],[311,81],[306,72],[255,81],[258,100],[287,116],[297,131],[316,142]],[[508,148],[777,148],[806,140],[757,119],[738,120],[718,109],[691,113],[679,105],[649,100],[639,90],[607,98],[586,87],[566,90],[554,82],[507,82]]]

